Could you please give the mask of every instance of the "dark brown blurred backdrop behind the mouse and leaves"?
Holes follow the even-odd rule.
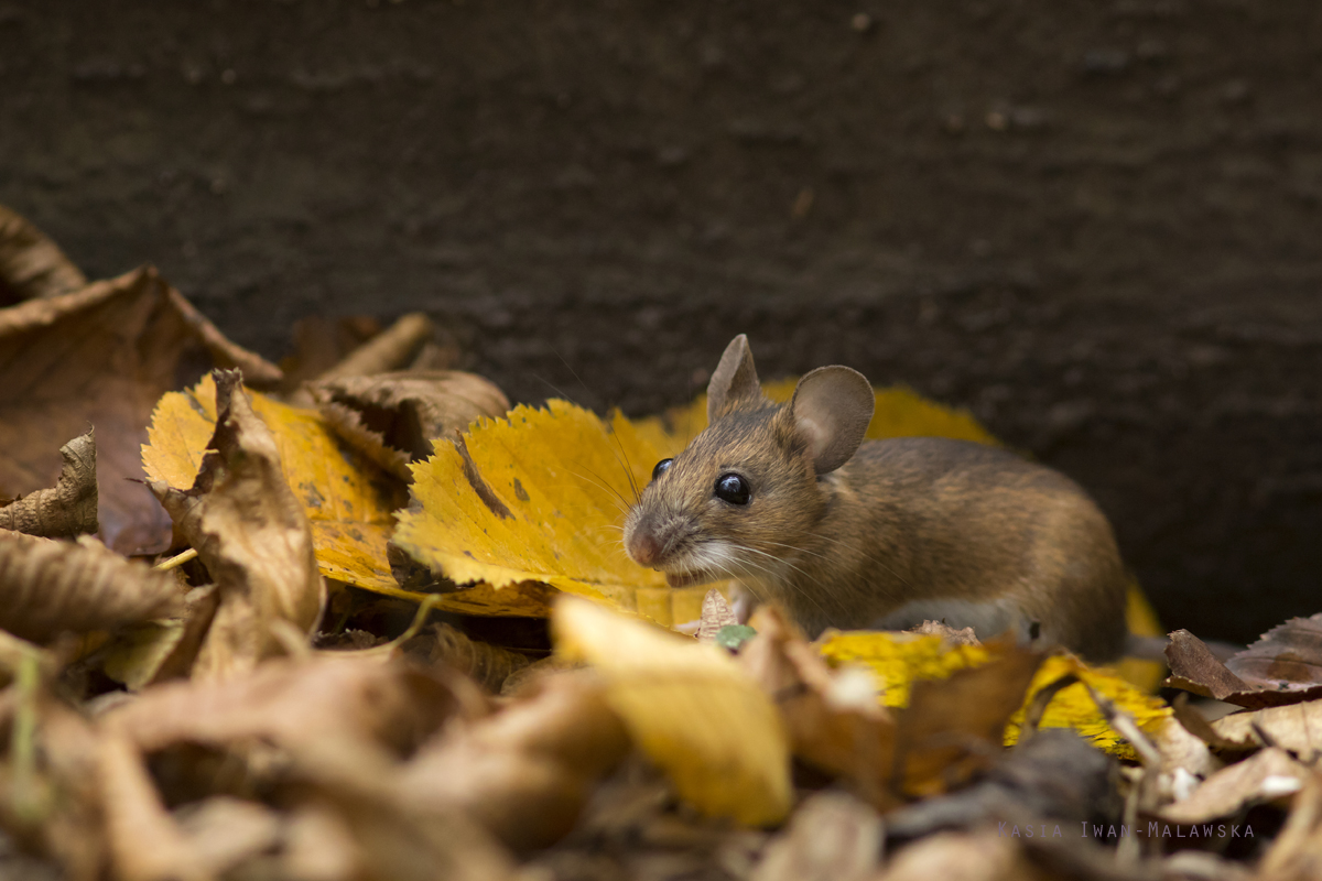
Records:
[[[426,309],[529,402],[740,332],[908,383],[1247,641],[1322,608],[1319,62],[1315,0],[0,0],[0,202],[268,357]]]

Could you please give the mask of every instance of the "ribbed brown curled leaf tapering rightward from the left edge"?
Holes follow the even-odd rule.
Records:
[[[46,641],[176,612],[175,577],[126,560],[97,539],[77,543],[0,532],[0,627]]]

